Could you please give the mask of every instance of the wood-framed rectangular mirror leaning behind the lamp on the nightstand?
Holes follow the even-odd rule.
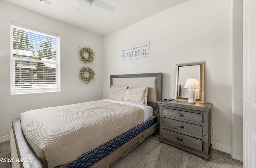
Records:
[[[204,61],[176,64],[175,96],[178,101],[188,101],[188,89],[183,88],[188,78],[196,78],[201,89],[195,90],[196,103],[204,102]]]

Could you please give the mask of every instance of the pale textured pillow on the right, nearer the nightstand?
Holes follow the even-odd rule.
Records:
[[[140,105],[147,105],[148,103],[148,87],[132,88],[126,90],[124,101],[136,103]]]

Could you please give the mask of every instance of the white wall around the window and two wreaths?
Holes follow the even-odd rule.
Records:
[[[60,34],[61,91],[10,95],[10,20]],[[25,10],[0,0],[0,141],[8,140],[11,120],[20,113],[58,105],[102,99],[102,37]],[[83,63],[79,47],[90,47],[95,57],[92,64]],[[95,81],[88,85],[79,79],[82,67],[91,67]]]

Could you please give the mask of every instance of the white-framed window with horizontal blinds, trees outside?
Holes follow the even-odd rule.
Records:
[[[60,91],[59,34],[11,21],[11,94]]]

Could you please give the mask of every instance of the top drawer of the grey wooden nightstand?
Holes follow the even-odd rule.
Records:
[[[199,113],[163,108],[163,115],[203,123],[203,115]]]

